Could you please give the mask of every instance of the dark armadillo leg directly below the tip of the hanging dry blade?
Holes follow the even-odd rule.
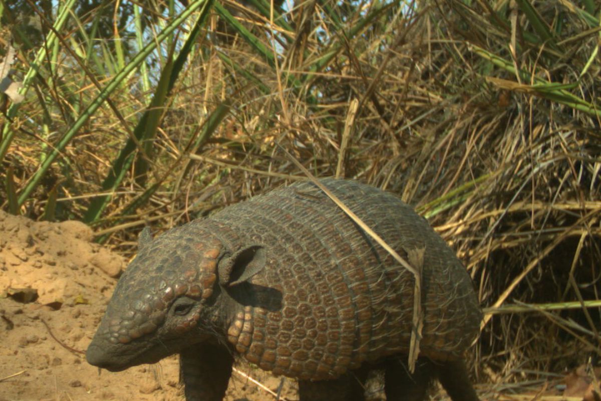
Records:
[[[419,358],[415,371],[409,372],[406,358],[391,358],[386,361],[384,392],[387,401],[423,401],[432,382],[435,367],[427,358]]]

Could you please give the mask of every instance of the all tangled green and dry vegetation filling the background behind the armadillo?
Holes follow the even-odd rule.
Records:
[[[539,387],[601,355],[600,16],[593,0],[1,1],[1,78],[25,99],[0,102],[0,204],[130,256],[144,225],[302,179],[291,158],[380,186],[474,278],[477,381]]]

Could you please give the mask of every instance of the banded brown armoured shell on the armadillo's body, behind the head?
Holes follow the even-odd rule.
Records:
[[[460,358],[481,315],[453,251],[394,195],[353,181],[322,182],[405,259],[407,251],[425,249],[421,355]],[[276,374],[328,379],[409,351],[412,274],[313,183],[269,192],[208,220],[230,246],[266,246],[266,268],[252,283],[282,293],[278,310],[246,306],[231,325],[228,339],[248,361]]]

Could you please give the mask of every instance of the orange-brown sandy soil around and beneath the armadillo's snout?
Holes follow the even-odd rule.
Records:
[[[91,239],[81,222],[34,222],[0,210],[0,401],[183,400],[176,356],[119,373],[85,361],[127,264]],[[237,369],[272,390],[281,383],[249,366]],[[281,394],[297,399],[293,381]],[[234,373],[226,399],[274,397]]]

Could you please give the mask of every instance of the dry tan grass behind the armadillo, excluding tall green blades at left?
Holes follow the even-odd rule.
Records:
[[[551,32],[545,38],[521,4],[396,5],[345,37],[332,32],[322,5],[307,2],[293,8],[296,29],[285,45],[266,41],[268,18],[240,11],[279,54],[275,66],[240,35],[228,43],[201,37],[162,106],[147,176],[133,179],[130,168],[94,223],[97,232],[133,253],[145,224],[182,224],[304,176],[281,146],[315,176],[338,174],[399,194],[456,249],[490,307],[474,353],[478,381],[501,390],[585,363],[601,351],[599,307],[493,314],[506,304],[599,299],[599,29],[571,2],[537,2],[534,15]],[[214,15],[210,22],[218,25]],[[147,105],[144,93],[130,90],[136,77],[111,96],[131,127],[100,108],[23,213],[39,218],[58,188],[56,216],[81,218]],[[75,78],[64,82],[78,88],[74,94],[94,91]],[[197,141],[218,105],[229,113]],[[25,135],[3,161],[18,188],[70,126],[61,110],[23,107]],[[145,200],[151,185],[156,191]]]

